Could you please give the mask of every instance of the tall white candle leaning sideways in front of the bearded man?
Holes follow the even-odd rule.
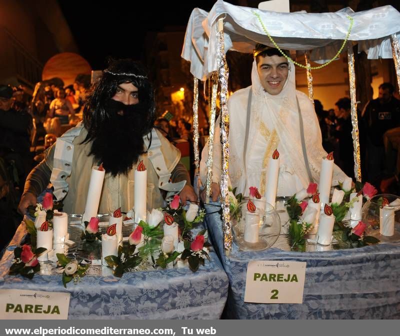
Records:
[[[98,170],[97,166],[91,168],[90,182],[87,190],[86,206],[82,216],[82,223],[88,222],[92,217],[97,217],[104,174],[105,170]]]

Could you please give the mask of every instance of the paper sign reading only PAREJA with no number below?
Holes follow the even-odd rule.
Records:
[[[66,320],[69,293],[0,290],[1,320]]]

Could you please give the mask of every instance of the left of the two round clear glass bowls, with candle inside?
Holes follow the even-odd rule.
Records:
[[[280,219],[272,205],[248,206],[248,198],[240,203],[238,215],[232,219],[235,242],[241,251],[262,251],[271,247],[280,234]],[[254,210],[254,211],[252,211]]]

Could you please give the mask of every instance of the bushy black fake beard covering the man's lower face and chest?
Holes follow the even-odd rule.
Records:
[[[92,141],[90,154],[113,176],[127,174],[139,155],[145,153],[143,130],[148,126],[148,111],[140,103],[124,105],[110,99],[106,113],[108,117]]]

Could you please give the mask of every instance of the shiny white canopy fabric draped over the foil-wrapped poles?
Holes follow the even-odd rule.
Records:
[[[205,79],[217,70],[217,20],[224,17],[225,52],[252,52],[255,43],[273,46],[254,13],[282,49],[312,50],[310,59],[323,63],[332,58],[353,26],[349,40],[369,59],[392,58],[390,35],[400,39],[400,13],[390,5],[353,12],[344,8],[334,13],[279,13],[235,6],[218,0],[210,12],[193,9],[186,28],[181,56],[190,61],[191,73]]]

